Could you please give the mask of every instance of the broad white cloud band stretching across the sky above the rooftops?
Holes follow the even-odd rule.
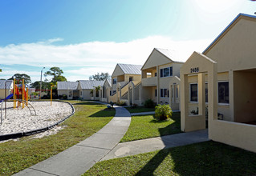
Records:
[[[59,66],[68,80],[88,78],[97,72],[112,74],[116,63],[143,65],[154,47],[171,49],[179,60],[185,62],[194,50],[202,52],[210,40],[174,41],[165,36],[150,36],[130,42],[83,42],[79,44],[55,46],[53,42],[62,41],[54,38],[46,42],[22,43],[0,47],[1,64],[24,64],[28,66]],[[79,70],[66,70],[67,66],[84,67]],[[10,74],[22,70],[11,70]],[[7,71],[8,72],[8,71]],[[39,75],[39,72],[24,72]],[[5,73],[6,74],[6,73]],[[69,79],[70,78],[70,79]],[[77,79],[76,79],[77,78]],[[38,78],[37,78],[38,79]],[[39,79],[38,79],[39,80]]]

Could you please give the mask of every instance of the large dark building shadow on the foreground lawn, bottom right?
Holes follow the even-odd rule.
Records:
[[[159,166],[157,173],[169,175],[255,175],[255,163],[250,151],[209,141],[160,150],[136,175],[154,175]]]

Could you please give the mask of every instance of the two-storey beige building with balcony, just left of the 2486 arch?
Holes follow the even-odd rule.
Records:
[[[141,68],[141,101],[169,104],[180,110],[180,69],[183,62],[173,60],[171,50],[155,48]]]

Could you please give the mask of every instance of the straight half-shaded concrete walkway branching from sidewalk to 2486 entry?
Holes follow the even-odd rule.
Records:
[[[102,158],[101,161],[205,141],[209,141],[208,130],[197,130],[188,133],[172,134],[132,142],[123,142],[119,143],[111,152]]]

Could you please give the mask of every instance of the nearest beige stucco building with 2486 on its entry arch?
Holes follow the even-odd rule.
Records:
[[[256,152],[255,31],[256,17],[239,14],[181,67],[181,130],[208,122],[213,141]]]

